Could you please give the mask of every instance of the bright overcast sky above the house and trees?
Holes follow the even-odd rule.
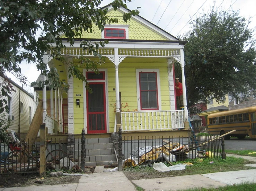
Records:
[[[106,6],[110,2],[111,0],[103,0],[100,7]],[[249,28],[255,29],[255,0],[132,0],[127,2],[127,7],[130,10],[141,7],[138,9],[141,17],[177,37],[189,31],[189,22],[200,14],[209,12],[214,3],[218,11],[239,10],[240,16],[246,19],[251,17]],[[31,82],[36,81],[40,74],[36,64],[26,64],[25,62],[21,64],[21,72],[27,77],[29,86]],[[17,81],[15,77],[9,77]],[[33,91],[29,87],[25,87],[25,89],[30,89],[30,92]]]

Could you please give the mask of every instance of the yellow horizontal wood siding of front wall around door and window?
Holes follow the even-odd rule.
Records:
[[[98,67],[107,69],[108,85],[108,127],[109,132],[114,132],[115,112],[116,112],[116,92],[115,92],[115,67],[107,58],[105,64]],[[169,84],[167,59],[157,58],[125,58],[118,67],[119,88],[122,93],[122,111],[137,111],[137,89],[136,89],[136,69],[159,69],[161,109],[170,110]],[[74,78],[74,133],[80,134],[84,127],[84,97],[83,83]],[[158,84],[159,86],[159,84]],[[81,96],[76,97],[76,94]],[[80,108],[76,107],[76,99],[80,99]],[[172,103],[174,104],[174,103]]]

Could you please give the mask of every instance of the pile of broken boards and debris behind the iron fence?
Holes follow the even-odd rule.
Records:
[[[137,148],[134,154],[123,161],[123,167],[136,167],[137,165],[148,165],[155,161],[166,161],[168,163],[186,158],[189,152],[188,145],[178,142],[168,142],[159,146],[146,146]]]

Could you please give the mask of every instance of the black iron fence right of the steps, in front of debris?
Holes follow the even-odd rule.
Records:
[[[218,136],[203,137],[128,137],[122,141],[124,166],[148,165],[167,162],[221,157],[221,139]],[[210,151],[210,152],[209,152]]]

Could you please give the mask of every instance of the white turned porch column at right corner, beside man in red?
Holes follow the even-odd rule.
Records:
[[[181,62],[181,74],[182,74],[182,90],[183,90],[183,105],[184,105],[184,113],[185,120],[188,121],[188,110],[187,110],[187,94],[186,94],[186,82],[185,82],[185,60],[184,60],[184,49],[180,49],[180,62]]]

